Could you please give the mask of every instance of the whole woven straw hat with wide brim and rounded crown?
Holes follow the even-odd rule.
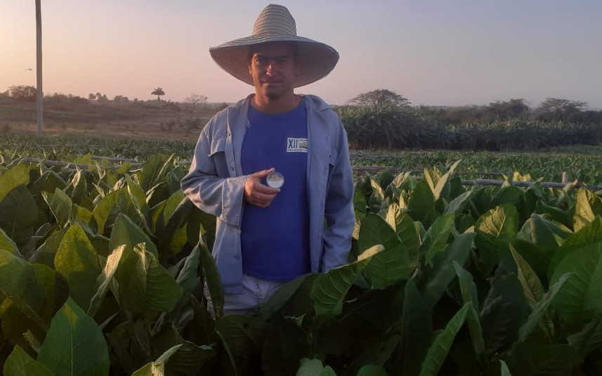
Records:
[[[293,16],[287,8],[276,4],[270,4],[261,11],[253,26],[253,34],[249,37],[211,47],[209,53],[223,70],[252,86],[247,60],[249,48],[271,41],[292,41],[298,46],[296,63],[301,65],[301,72],[294,81],[294,87],[311,84],[325,77],[339,61],[339,53],[331,46],[297,36]]]

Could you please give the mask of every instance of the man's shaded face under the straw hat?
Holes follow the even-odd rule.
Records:
[[[288,43],[260,44],[251,53],[249,74],[258,95],[277,99],[286,93],[292,93],[298,72],[293,48]]]

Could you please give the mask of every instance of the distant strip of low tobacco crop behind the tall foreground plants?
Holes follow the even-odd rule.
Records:
[[[0,153],[15,157],[36,157],[46,160],[74,161],[81,155],[131,158],[145,161],[151,155],[174,154],[181,160],[190,160],[194,143],[185,141],[150,140],[135,138],[95,137],[81,134],[32,137],[25,134],[0,134]],[[602,186],[602,146],[578,145],[552,148],[538,152],[487,152],[471,150],[351,150],[354,166],[389,166],[404,170],[445,166],[462,160],[459,172],[463,179],[491,176],[482,172],[499,172],[512,176],[514,171],[531,179],[562,181],[563,171],[568,179]],[[497,179],[497,178],[495,178]]]

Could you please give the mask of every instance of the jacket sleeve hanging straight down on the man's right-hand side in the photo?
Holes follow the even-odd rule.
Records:
[[[339,122],[340,124],[340,122]],[[353,234],[353,173],[349,161],[347,133],[341,124],[339,153],[332,170],[326,193],[325,219],[327,228],[323,238],[324,253],[321,272],[347,264]]]

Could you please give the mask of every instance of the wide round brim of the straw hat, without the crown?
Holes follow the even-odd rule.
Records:
[[[298,48],[297,63],[301,72],[296,77],[293,86],[299,87],[311,84],[325,77],[334,69],[339,61],[339,53],[334,48],[319,41],[305,37],[274,37],[251,35],[233,41],[228,41],[219,46],[209,48],[211,58],[226,72],[232,74],[242,82],[254,86],[249,75],[249,46],[268,43],[270,41],[296,42]]]

